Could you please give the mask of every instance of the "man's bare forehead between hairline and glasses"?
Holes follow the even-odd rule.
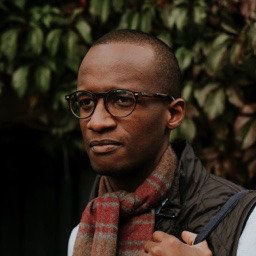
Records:
[[[109,43],[92,47],[78,73],[78,87],[122,83],[149,84],[154,78],[155,53],[148,45]],[[130,88],[130,87],[129,87]],[[111,89],[111,88],[110,88]],[[135,88],[130,88],[135,89]]]

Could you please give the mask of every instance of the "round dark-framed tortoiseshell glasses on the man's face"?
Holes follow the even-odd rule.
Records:
[[[90,117],[98,99],[103,98],[105,109],[114,117],[129,116],[142,97],[162,100],[174,100],[174,97],[162,93],[134,92],[129,90],[111,90],[108,92],[92,93],[88,91],[75,91],[65,96],[69,108],[75,117],[83,119]]]

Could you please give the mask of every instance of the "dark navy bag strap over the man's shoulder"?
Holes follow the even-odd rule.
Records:
[[[221,207],[215,216],[203,227],[203,229],[196,236],[194,244],[201,243],[204,241],[211,232],[219,225],[219,223],[230,213],[235,206],[238,204],[239,200],[249,192],[249,190],[242,190],[233,196],[231,196],[228,201]]]

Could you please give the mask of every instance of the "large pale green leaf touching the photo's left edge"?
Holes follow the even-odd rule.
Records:
[[[17,40],[20,30],[17,28],[8,29],[1,36],[1,52],[12,61],[17,52]]]

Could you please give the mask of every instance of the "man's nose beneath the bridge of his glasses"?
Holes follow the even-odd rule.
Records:
[[[115,127],[116,120],[106,110],[103,99],[99,99],[94,112],[87,123],[87,128],[95,132],[103,132]]]

